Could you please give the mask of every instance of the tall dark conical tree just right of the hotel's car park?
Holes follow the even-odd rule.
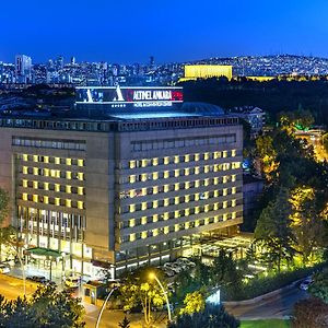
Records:
[[[262,248],[262,259],[273,265],[279,272],[282,260],[291,259],[294,255],[291,213],[289,191],[281,189],[277,199],[262,211],[255,229],[255,239]]]

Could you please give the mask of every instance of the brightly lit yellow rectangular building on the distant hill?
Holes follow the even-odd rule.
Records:
[[[180,81],[197,79],[221,78],[232,79],[232,66],[230,65],[185,65],[185,75]]]

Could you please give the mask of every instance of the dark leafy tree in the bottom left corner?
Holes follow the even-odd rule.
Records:
[[[7,301],[0,295],[0,327],[2,328],[82,328],[83,306],[66,291],[52,285],[39,286],[31,298]]]

